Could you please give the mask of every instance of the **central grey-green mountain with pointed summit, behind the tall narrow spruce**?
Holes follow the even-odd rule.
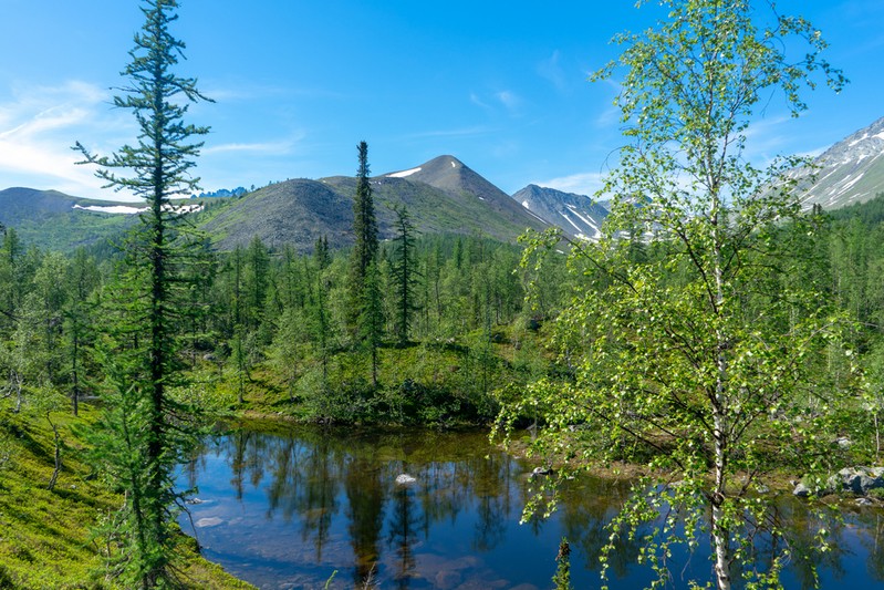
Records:
[[[453,156],[439,156],[401,173],[371,178],[382,239],[394,235],[394,208],[407,208],[419,234],[477,234],[514,241],[526,229],[545,227],[506,193]],[[278,183],[228,205],[204,229],[221,250],[246,246],[253,237],[270,247],[301,251],[327,236],[333,248],[353,242],[356,179],[332,176]]]

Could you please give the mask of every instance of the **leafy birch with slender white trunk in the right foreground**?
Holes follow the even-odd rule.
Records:
[[[642,559],[662,586],[672,546],[693,549],[708,532],[711,584],[729,589],[742,571],[747,587],[779,587],[788,553],[765,569],[749,547],[759,530],[783,531],[749,485],[783,449],[826,457],[853,373],[845,363],[833,381],[821,362],[850,354],[846,322],[793,247],[819,227],[790,193],[797,161],[758,169],[743,148],[771,92],[798,114],[814,73],[835,90],[844,79],[819,60],[824,42],[803,19],[771,13],[759,25],[768,17],[748,1],[665,3],[669,20],[615,38],[622,55],[595,75],[625,70],[616,104],[632,143],[603,190],[613,204],[602,239],[571,245],[576,289],[558,322],[570,379],[538,381],[502,418],[537,412],[538,453],[661,474],[633,488],[603,555],[621,530],[653,522]],[[809,45],[798,61],[792,40]]]

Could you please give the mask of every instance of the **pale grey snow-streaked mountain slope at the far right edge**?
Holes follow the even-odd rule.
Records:
[[[814,158],[815,170],[792,173],[799,178],[801,201],[807,208],[821,205],[838,209],[864,203],[884,192],[884,117],[852,133]],[[814,184],[810,184],[815,174]]]

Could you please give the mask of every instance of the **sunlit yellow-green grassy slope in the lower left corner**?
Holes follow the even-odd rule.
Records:
[[[123,498],[100,485],[83,462],[73,432],[94,417],[53,414],[63,441],[63,469],[54,490],[54,443],[44,416],[0,407],[0,588],[117,588],[105,579],[101,544],[91,530]],[[183,539],[183,581],[188,588],[252,588],[196,555]]]

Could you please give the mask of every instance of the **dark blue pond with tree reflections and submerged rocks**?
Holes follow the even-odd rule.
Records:
[[[483,433],[305,426],[211,437],[179,485],[198,487],[180,522],[207,559],[268,589],[325,588],[330,578],[329,588],[548,589],[563,536],[574,588],[599,588],[604,527],[627,493],[624,483],[582,477],[569,482],[552,517],[520,525],[530,466]],[[800,503],[784,497],[780,509],[798,538],[810,530]],[[831,527],[821,587],[884,588],[881,511],[857,509]],[[638,551],[621,545],[612,588],[651,581],[649,568],[635,563]],[[707,555],[675,555],[672,587],[708,579]],[[783,581],[812,587],[800,560]]]

